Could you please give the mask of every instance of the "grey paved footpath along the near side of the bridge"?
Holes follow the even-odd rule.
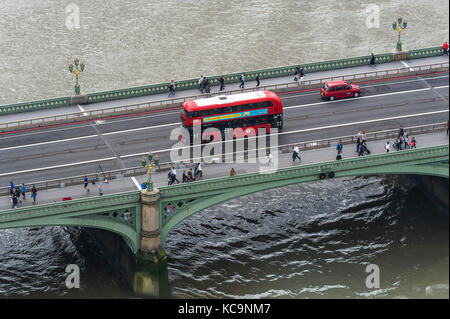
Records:
[[[412,137],[412,136],[410,136]],[[393,143],[392,139],[389,140],[390,144]],[[418,148],[425,146],[437,146],[448,144],[449,138],[448,135],[444,131],[438,133],[431,134],[423,134],[416,135],[416,141]],[[378,141],[370,141],[367,146],[372,152],[372,154],[382,154],[386,151],[384,150],[384,145],[386,140],[378,140]],[[347,144],[344,145],[343,158],[352,158],[357,157],[355,152],[356,145]],[[391,152],[395,152],[393,149]],[[403,150],[402,152],[408,152],[408,150]],[[336,145],[333,145],[329,148],[322,148],[317,150],[309,150],[305,152],[301,152],[300,154],[302,158],[302,162],[296,161],[292,163],[292,153],[288,154],[280,154],[278,160],[278,166],[280,168],[291,167],[293,165],[303,165],[303,164],[312,164],[317,162],[325,162],[335,160],[336,158]],[[366,155],[369,156],[369,155]],[[260,164],[208,164],[203,166],[203,180],[207,178],[216,178],[216,177],[226,177],[229,176],[229,171],[231,168],[234,168],[236,173],[244,174],[244,173],[252,173],[259,171]],[[181,177],[184,169],[177,169],[177,178],[181,182]],[[153,183],[156,187],[166,186],[167,185],[167,174],[168,170],[163,171],[155,171],[152,174]],[[135,177],[138,184],[146,181],[147,176],[141,175]],[[37,203],[38,204],[46,204],[53,203],[57,201],[61,201],[63,197],[72,197],[73,199],[82,199],[88,197],[99,196],[98,195],[98,183],[95,185],[89,184],[90,192],[86,192],[83,189],[83,185],[75,185],[69,186],[66,188],[55,188],[49,190],[38,190]],[[109,183],[103,183],[103,193],[104,194],[114,194],[121,193],[126,191],[137,190],[135,182],[131,177],[114,179],[109,181]],[[26,194],[26,200],[19,204],[20,207],[32,206],[32,200],[30,198],[30,189]],[[12,206],[11,199],[9,196],[0,197],[0,210],[10,209]]]

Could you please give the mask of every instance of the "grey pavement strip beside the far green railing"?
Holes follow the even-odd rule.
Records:
[[[442,56],[434,56],[434,57],[427,57],[427,58],[419,58],[419,59],[413,59],[413,60],[406,60],[406,61],[393,61],[389,63],[382,63],[377,64],[376,66],[357,66],[357,67],[351,67],[351,68],[345,68],[345,69],[338,69],[338,70],[328,70],[328,71],[319,71],[319,72],[312,72],[307,73],[305,76],[305,80],[314,80],[314,79],[322,79],[322,78],[328,78],[332,76],[342,76],[342,75],[348,75],[348,74],[356,74],[356,73],[363,73],[363,72],[373,72],[373,71],[383,71],[383,70],[390,70],[395,68],[405,68],[405,67],[414,67],[418,65],[425,65],[425,64],[433,64],[433,63],[448,63],[449,58],[446,55]],[[208,74],[205,74],[205,72],[199,72],[199,78],[200,75],[204,74],[208,76]],[[287,83],[287,82],[294,82],[294,74],[289,76],[283,76],[283,77],[277,77],[277,78],[270,78],[270,79],[261,79],[261,86],[264,85],[273,85],[273,84],[280,84],[280,83]],[[169,81],[171,79],[167,79]],[[175,79],[176,81],[176,79]],[[226,84],[226,90],[234,90],[239,89],[240,83],[229,83]],[[246,82],[245,87],[251,88],[255,87],[256,82],[255,81],[248,81]],[[219,86],[213,86],[212,92],[219,91]],[[199,90],[183,90],[183,91],[177,91],[175,97],[185,97],[185,96],[193,96],[200,94]],[[80,112],[83,110],[96,110],[101,108],[107,108],[107,107],[113,107],[113,106],[123,106],[123,105],[130,105],[130,104],[137,104],[137,103],[145,103],[149,101],[159,101],[159,100],[165,100],[167,99],[167,93],[161,93],[161,94],[155,94],[155,95],[146,95],[141,97],[133,97],[133,98],[127,98],[127,99],[121,99],[121,100],[113,100],[113,101],[105,101],[105,102],[98,102],[98,103],[92,103],[87,105],[72,105],[72,106],[64,106],[54,109],[47,109],[47,110],[41,110],[41,111],[35,111],[35,112],[25,112],[25,113],[17,113],[17,114],[8,114],[8,115],[2,115],[0,117],[1,122],[12,122],[17,120],[25,120],[25,119],[32,119],[32,118],[40,118],[45,116],[53,116],[57,114],[67,114],[67,113],[74,113],[74,112]]]

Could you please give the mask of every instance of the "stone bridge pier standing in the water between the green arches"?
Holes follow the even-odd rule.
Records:
[[[158,298],[169,294],[167,255],[161,248],[159,199],[158,188],[141,192],[141,249],[136,254],[132,283],[137,296]]]

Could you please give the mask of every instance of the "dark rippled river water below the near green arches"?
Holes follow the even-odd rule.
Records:
[[[348,178],[234,199],[166,243],[175,298],[448,298],[448,212],[414,183]],[[0,231],[4,297],[132,297],[84,231]],[[68,291],[65,267],[81,268]],[[380,289],[365,268],[380,268]]]

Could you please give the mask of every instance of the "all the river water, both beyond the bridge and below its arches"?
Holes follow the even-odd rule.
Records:
[[[87,64],[87,92],[169,79],[390,52],[391,23],[407,18],[405,49],[448,40],[448,1],[370,2],[0,0],[0,103],[71,94],[67,65]],[[66,8],[80,9],[80,28]],[[70,13],[69,13],[70,14]],[[168,237],[175,298],[448,298],[448,212],[404,179],[347,178],[229,201]],[[131,297],[86,231],[0,231],[0,297]],[[81,289],[67,290],[67,264]],[[365,267],[379,266],[379,289]]]

